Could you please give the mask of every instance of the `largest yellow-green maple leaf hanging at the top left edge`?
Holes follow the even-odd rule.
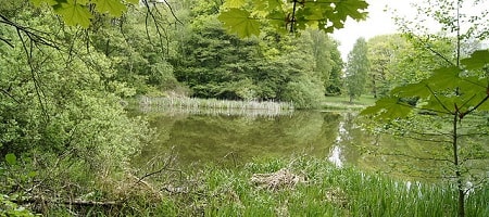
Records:
[[[85,28],[88,28],[90,25],[90,11],[88,11],[87,7],[75,3],[74,0],[67,0],[66,3],[54,7],[54,11],[63,17],[67,25],[80,25]]]

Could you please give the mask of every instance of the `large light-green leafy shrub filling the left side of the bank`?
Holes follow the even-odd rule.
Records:
[[[85,33],[50,11],[14,10],[0,17],[0,196],[82,196],[124,174],[152,133],[126,115],[118,95],[130,88]]]

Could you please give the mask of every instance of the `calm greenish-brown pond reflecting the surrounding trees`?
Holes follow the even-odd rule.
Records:
[[[312,155],[342,167],[383,170],[409,177],[425,177],[418,168],[436,168],[431,162],[372,154],[383,146],[414,155],[421,141],[372,135],[356,122],[355,112],[296,111],[285,114],[141,112],[158,131],[158,141],[142,150],[136,164],[167,156],[183,165],[206,163],[236,166],[253,158]],[[427,145],[423,143],[423,145]],[[429,145],[429,144],[428,144]],[[413,162],[413,161],[411,161]],[[428,173],[429,174],[429,173]],[[426,177],[425,177],[426,178]]]

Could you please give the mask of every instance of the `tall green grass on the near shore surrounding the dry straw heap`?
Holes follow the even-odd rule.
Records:
[[[250,178],[283,168],[303,177],[294,184],[261,187]],[[241,167],[208,166],[199,187],[176,216],[454,216],[456,188],[446,182],[404,181],[325,159],[266,159]],[[279,181],[279,179],[275,180]],[[467,200],[468,216],[487,216],[488,186]],[[181,197],[180,197],[181,199]],[[175,203],[177,204],[177,203]],[[180,203],[184,204],[184,203]]]

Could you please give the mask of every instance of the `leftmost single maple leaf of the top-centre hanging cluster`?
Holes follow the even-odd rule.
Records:
[[[250,37],[260,35],[260,23],[250,17],[250,13],[241,9],[229,9],[222,12],[218,20],[228,27],[231,33],[239,37]]]

